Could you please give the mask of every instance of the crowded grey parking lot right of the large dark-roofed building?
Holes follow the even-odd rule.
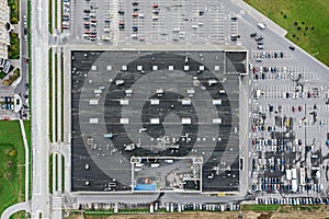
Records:
[[[254,62],[249,66],[251,187],[321,197],[328,181],[328,87],[307,66],[268,66],[257,60],[282,59],[281,53],[283,59],[290,57],[287,51],[253,51]]]

